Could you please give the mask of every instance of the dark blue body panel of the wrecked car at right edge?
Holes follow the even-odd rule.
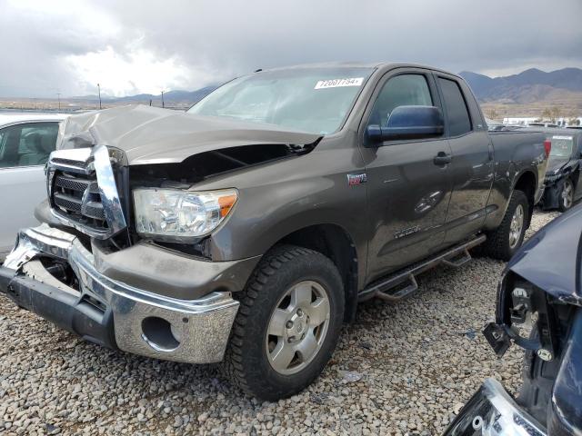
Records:
[[[558,300],[582,306],[581,237],[582,204],[534,234],[511,258],[507,268]]]

